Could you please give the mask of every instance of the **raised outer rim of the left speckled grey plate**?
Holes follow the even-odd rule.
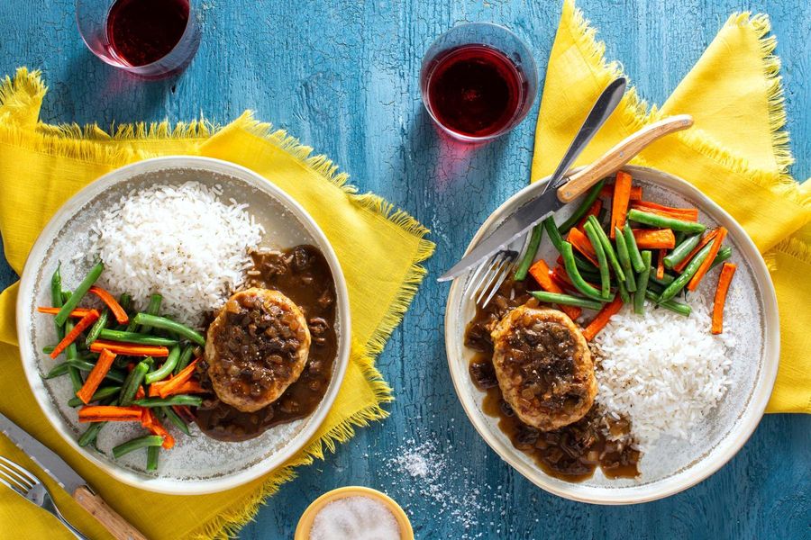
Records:
[[[251,169],[237,165],[230,161],[223,159],[216,159],[214,157],[197,157],[197,156],[165,156],[154,157],[132,163],[130,165],[119,167],[103,176],[100,176],[92,183],[87,184],[78,193],[71,197],[68,202],[65,202],[58,211],[53,215],[48,224],[42,229],[40,236],[34,242],[31,252],[25,261],[23,267],[23,275],[20,279],[20,292],[17,298],[17,329],[18,335],[30,335],[32,328],[32,320],[25,317],[23,314],[28,313],[31,307],[31,302],[26,302],[25,299],[32,298],[34,287],[34,280],[41,264],[41,259],[44,257],[50,243],[55,238],[59,230],[68,222],[68,220],[77,213],[88,201],[93,200],[96,196],[104,193],[108,189],[112,181],[118,182],[126,180],[135,176],[144,175],[148,173],[164,171],[169,169],[197,169],[206,172],[212,172],[221,175],[229,175],[237,180],[249,184],[262,192],[268,193],[269,196],[275,198],[278,202],[284,205],[288,211],[293,213],[301,223],[304,224],[307,232],[311,234],[319,242],[319,248],[322,249],[323,256],[326,258],[333,272],[335,280],[335,291],[338,300],[338,310],[340,313],[340,339],[338,346],[338,353],[335,358],[335,365],[333,367],[333,375],[330,381],[330,387],[324,394],[321,403],[314,412],[306,417],[307,424],[296,435],[290,439],[289,443],[277,454],[269,455],[268,457],[260,460],[258,463],[251,465],[247,469],[239,473],[232,473],[223,476],[217,476],[206,480],[182,480],[177,478],[166,479],[161,477],[144,478],[141,473],[136,473],[116,466],[114,461],[105,461],[97,457],[94,453],[88,452],[85,448],[78,446],[77,441],[73,434],[64,425],[56,410],[55,404],[50,400],[48,392],[45,391],[44,383],[41,381],[40,373],[37,369],[36,352],[33,350],[31,340],[29,338],[20,340],[20,356],[23,362],[23,370],[25,371],[28,383],[31,386],[34,398],[40,405],[40,409],[45,413],[46,418],[49,420],[50,425],[57,430],[59,435],[68,442],[68,445],[76,450],[80,455],[87,458],[97,467],[101,468],[105,473],[110,474],[116,480],[129,484],[133,487],[140,488],[141,490],[156,491],[159,493],[168,493],[173,495],[202,495],[205,493],[214,493],[217,491],[225,491],[246,482],[251,482],[269,473],[279,465],[284,464],[287,459],[300,451],[306,443],[314,436],[318,428],[323,424],[323,420],[333,407],[335,398],[341,388],[346,368],[349,364],[350,344],[351,344],[351,319],[350,319],[350,304],[349,292],[344,278],[341,264],[338,257],[335,255],[333,246],[330,241],[323,234],[323,230],[313,220],[310,214],[296,202],[290,195],[282,191],[276,184],[265,178],[264,176],[251,171]],[[36,267],[34,267],[36,265]]]

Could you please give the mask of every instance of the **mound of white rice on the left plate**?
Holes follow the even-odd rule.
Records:
[[[139,309],[159,293],[161,313],[202,324],[241,284],[264,232],[247,204],[222,202],[222,194],[219,185],[187,182],[123,196],[90,230],[87,258],[105,263],[100,282],[132,294]]]

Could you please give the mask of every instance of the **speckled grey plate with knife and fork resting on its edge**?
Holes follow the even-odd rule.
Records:
[[[464,347],[465,326],[475,313],[474,303],[463,294],[467,277],[457,279],[451,285],[445,311],[445,343],[451,377],[461,404],[481,437],[515,470],[542,489],[567,499],[600,504],[661,499],[715,473],[743,446],[760,422],[779,361],[779,322],[774,287],[760,253],[741,226],[706,195],[675,176],[640,166],[626,166],[624,169],[633,175],[634,184],[642,185],[646,200],[696,207],[701,222],[708,226],[723,225],[729,231],[725,244],[734,249],[732,261],[737,264],[738,271],[726,310],[736,316],[724,320],[724,334],[729,333],[733,343],[725,348],[732,361],[728,373],[731,385],[724,398],[693,429],[691,442],[662,437],[642,455],[641,474],[635,479],[611,480],[597,469],[588,480],[573,483],[544,473],[530,455],[513,446],[498,428],[497,419],[482,411],[485,394],[473,385],[468,371],[474,353]],[[546,180],[524,188],[502,204],[478,229],[470,245],[487,235],[518,206],[536,196]],[[577,204],[570,206],[576,207]],[[571,211],[571,208],[562,209],[556,220],[564,220]],[[549,242],[544,241],[538,257],[553,260],[552,250]],[[715,283],[710,282],[715,281],[704,280],[697,294],[712,298]]]

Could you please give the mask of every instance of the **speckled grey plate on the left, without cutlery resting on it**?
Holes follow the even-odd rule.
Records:
[[[196,427],[193,435],[176,437],[170,452],[160,454],[156,473],[145,471],[143,455],[133,452],[114,459],[111,449],[128,438],[141,434],[139,427],[113,422],[101,431],[101,452],[77,445],[77,437],[86,425],[77,421],[77,411],[67,405],[71,395],[67,377],[43,380],[56,364],[41,353],[42,347],[55,343],[56,332],[50,316],[37,313],[39,305],[50,305],[50,275],[62,262],[62,280],[75,284],[87,274],[89,265],[76,259],[87,251],[88,225],[99,209],[117,202],[123,194],[150,184],[182,184],[194,180],[201,184],[219,184],[223,200],[247,203],[248,211],[264,227],[259,247],[285,248],[298,244],[318,247],[329,263],[337,293],[336,329],[338,356],[333,375],[316,410],[305,419],[270,428],[260,437],[240,443],[226,443],[205,437]],[[59,434],[87,459],[114,478],[144,490],[174,494],[223,491],[268,473],[300,450],[313,437],[333,405],[349,361],[349,296],[341,266],[333,248],[307,212],[275,184],[250,170],[232,163],[204,157],[159,157],[124,166],[105,175],[76,194],[54,215],[37,239],[23,270],[17,302],[17,332],[23,367],[32,391],[45,415]]]

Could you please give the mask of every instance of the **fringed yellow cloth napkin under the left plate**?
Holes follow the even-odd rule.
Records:
[[[172,497],[115,482],[71,450],[50,428],[25,382],[14,330],[16,285],[0,296],[0,410],[62,455],[102,497],[150,538],[222,537],[249,521],[262,500],[295,476],[294,468],[322,458],[350,438],[353,428],[386,415],[379,405],[391,391],[374,367],[374,355],[408,307],[430,257],[427,230],[404,211],[367,193],[326,157],[250,113],[215,129],[205,121],[119,126],[108,135],[97,126],[50,126],[38,117],[46,88],[38,73],[18,70],[0,85],[0,233],[5,257],[18,273],[32,242],[62,202],[118,166],[169,154],[227,159],[264,175],[300,202],[330,239],[349,285],[351,362],[338,399],[305,450],[267,476],[214,495]],[[360,247],[360,248],[359,248]],[[30,460],[0,437],[0,455]],[[39,471],[34,467],[35,471]],[[41,473],[43,480],[50,480]],[[49,482],[53,487],[52,482]],[[59,509],[93,538],[102,527],[55,489]],[[314,494],[314,496],[317,494]],[[71,538],[56,522],[10,491],[0,490],[0,537]]]

